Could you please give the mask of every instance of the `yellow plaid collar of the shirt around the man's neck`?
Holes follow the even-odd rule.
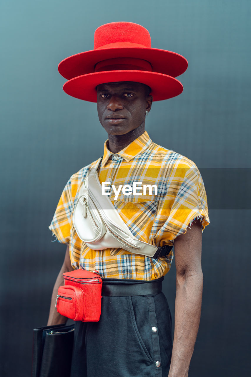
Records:
[[[139,155],[140,153],[144,152],[150,144],[152,144],[152,139],[150,139],[148,133],[145,131],[140,135],[137,139],[133,140],[132,143],[130,143],[127,147],[119,151],[118,153],[112,153],[108,148],[108,139],[104,143],[104,155],[102,159],[102,166],[106,164],[109,157],[113,154],[119,155],[126,162],[131,161],[135,156]]]

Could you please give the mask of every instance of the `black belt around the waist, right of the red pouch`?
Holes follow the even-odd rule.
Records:
[[[144,296],[161,293],[163,279],[164,277],[161,277],[144,283],[140,280],[102,279],[101,296]]]

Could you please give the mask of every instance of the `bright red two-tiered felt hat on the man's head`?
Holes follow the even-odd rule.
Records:
[[[96,102],[96,86],[135,81],[150,86],[153,101],[179,95],[175,78],[187,69],[187,60],[175,52],[151,48],[147,29],[132,22],[112,22],[94,34],[94,49],[72,55],[58,64],[68,81],[63,90],[72,97]]]

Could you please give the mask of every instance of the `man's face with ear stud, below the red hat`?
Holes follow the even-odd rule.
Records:
[[[125,135],[145,122],[152,96],[146,86],[133,81],[106,83],[97,86],[98,118],[109,135]]]

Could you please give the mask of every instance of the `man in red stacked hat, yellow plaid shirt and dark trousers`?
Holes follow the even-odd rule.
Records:
[[[123,249],[95,251],[77,236],[72,215],[93,162],[70,177],[49,227],[58,241],[68,246],[52,293],[48,325],[67,320],[54,308],[66,271],[98,270],[103,284],[113,285],[115,290],[123,284],[129,294],[103,295],[99,322],[75,323],[71,377],[188,375],[201,310],[207,198],[193,161],[153,143],[144,129],[153,100],[181,93],[182,85],[174,76],[187,67],[178,54],[153,51],[149,39],[140,25],[103,25],[95,32],[94,50],[65,59],[59,71],[69,80],[63,87],[66,93],[97,102],[99,121],[108,133],[98,171],[100,182],[113,183],[117,193],[121,182],[155,182],[159,189],[156,196],[150,191],[138,196],[111,191],[109,198],[136,238],[157,247],[174,245],[173,344],[164,294],[130,294],[132,285],[147,282],[150,287],[163,280],[171,267],[172,251],[152,258]],[[163,63],[160,56],[167,61]]]

